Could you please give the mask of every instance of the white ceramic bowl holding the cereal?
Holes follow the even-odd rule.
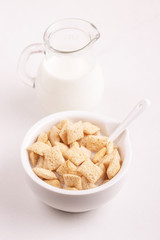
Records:
[[[125,182],[126,172],[132,155],[128,131],[123,132],[116,141],[123,163],[120,171],[113,179],[94,189],[81,191],[63,190],[50,186],[34,174],[26,149],[41,132],[49,130],[52,125],[64,119],[90,121],[100,126],[104,135],[109,135],[118,124],[115,120],[111,120],[104,115],[85,111],[59,112],[38,121],[27,132],[21,146],[21,160],[27,181],[37,197],[53,208],[67,212],[84,212],[98,208],[111,200]]]

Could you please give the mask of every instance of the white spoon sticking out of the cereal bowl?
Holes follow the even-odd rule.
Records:
[[[118,127],[116,127],[113,133],[109,136],[108,142],[114,141],[149,106],[150,101],[148,99],[141,100],[127,115],[123,122],[121,122]]]

